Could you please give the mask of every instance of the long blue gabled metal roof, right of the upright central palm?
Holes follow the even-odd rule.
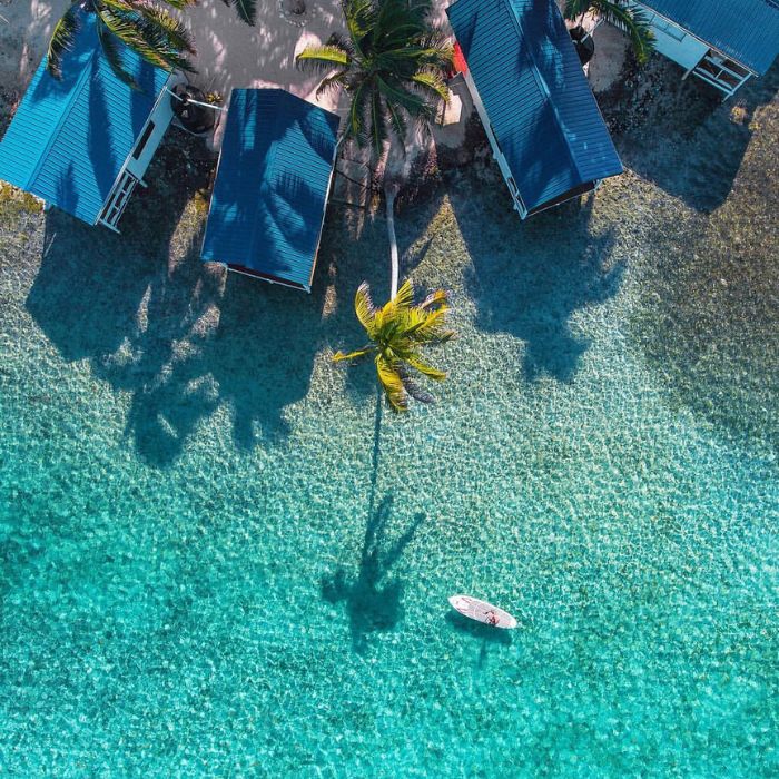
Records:
[[[622,172],[554,0],[457,0],[446,12],[527,210]]]

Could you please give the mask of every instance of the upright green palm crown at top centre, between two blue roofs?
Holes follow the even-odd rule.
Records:
[[[452,46],[430,21],[430,0],[342,0],[348,37],[333,34],[297,57],[302,68],[327,73],[316,95],[344,89],[352,98],[344,137],[368,142],[381,156],[408,121],[427,127],[440,100]]]

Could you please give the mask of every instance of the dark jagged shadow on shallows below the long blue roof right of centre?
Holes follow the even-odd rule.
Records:
[[[622,279],[622,265],[607,267],[614,228],[591,230],[594,196],[523,223],[510,209],[503,183],[490,186],[505,197],[474,194],[470,187],[450,193],[471,256],[467,283],[476,303],[476,326],[524,342],[527,381],[546,375],[571,382],[589,346],[571,329],[571,317],[612,297]]]

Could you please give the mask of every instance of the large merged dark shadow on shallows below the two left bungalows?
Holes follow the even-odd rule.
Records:
[[[180,246],[175,228],[213,162],[197,170],[174,146],[154,165],[121,236],[47,214],[27,308],[65,359],[129,393],[126,433],[164,467],[223,404],[239,447],[287,434],[284,410],[308,392],[323,337],[324,274],[304,295],[204,266],[201,231]]]

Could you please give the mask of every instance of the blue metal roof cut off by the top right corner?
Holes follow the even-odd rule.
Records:
[[[640,0],[762,76],[779,55],[777,0]]]

